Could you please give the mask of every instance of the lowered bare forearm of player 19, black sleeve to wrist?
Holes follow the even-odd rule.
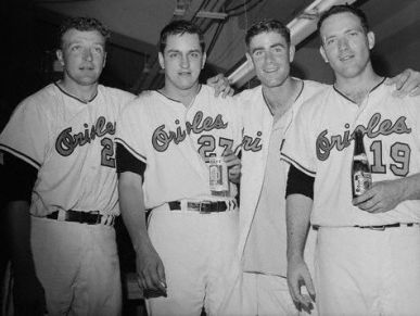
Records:
[[[303,260],[313,200],[302,194],[287,198],[288,260]]]

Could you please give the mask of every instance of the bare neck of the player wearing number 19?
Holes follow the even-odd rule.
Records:
[[[369,92],[378,86],[383,78],[374,73],[369,64],[358,76],[345,78],[336,76],[334,87],[348,99],[360,105]]]

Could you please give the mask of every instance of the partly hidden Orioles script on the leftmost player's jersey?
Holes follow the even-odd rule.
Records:
[[[64,129],[60,132],[55,141],[55,150],[62,156],[71,155],[74,150],[80,146],[85,146],[93,141],[97,137],[103,137],[106,134],[115,134],[115,122],[106,122],[106,118],[100,116],[97,123],[90,128],[88,124],[84,124],[85,130],[76,134],[72,134],[72,127]]]

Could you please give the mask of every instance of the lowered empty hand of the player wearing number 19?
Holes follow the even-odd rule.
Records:
[[[289,292],[292,296],[296,308],[302,308],[309,313],[314,308],[315,288],[310,273],[303,260],[289,260],[288,262],[288,285]],[[303,294],[301,287],[305,286],[307,294]]]

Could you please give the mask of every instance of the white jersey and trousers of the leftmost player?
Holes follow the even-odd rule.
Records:
[[[49,315],[118,315],[119,263],[113,227],[44,218],[58,210],[118,215],[116,118],[131,93],[98,87],[82,102],[51,84],[25,99],[0,136],[0,150],[38,170],[31,249]]]

